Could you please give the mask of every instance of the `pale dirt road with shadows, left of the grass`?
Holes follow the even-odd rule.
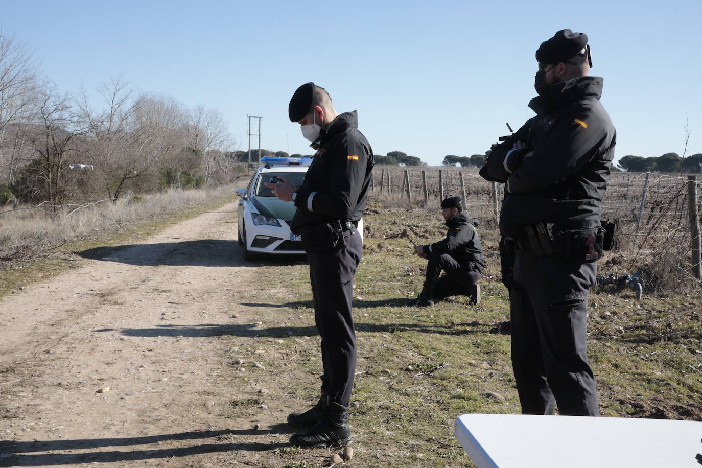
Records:
[[[82,255],[0,300],[0,467],[233,466],[237,450],[282,446],[286,434],[226,417],[234,359],[220,335],[254,323],[241,303],[258,274],[234,203]]]

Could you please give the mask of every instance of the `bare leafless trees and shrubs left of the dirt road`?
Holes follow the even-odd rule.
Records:
[[[117,201],[234,178],[237,143],[216,109],[188,109],[114,79],[59,91],[0,30],[0,204]]]

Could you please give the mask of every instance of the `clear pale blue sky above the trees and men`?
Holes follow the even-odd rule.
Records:
[[[218,109],[246,149],[309,154],[287,118],[295,89],[357,109],[376,154],[430,165],[482,154],[533,115],[534,52],[557,30],[590,38],[616,157],[702,152],[702,1],[0,0],[0,26],[34,48],[63,91],[116,76],[187,107]],[[252,146],[258,142],[252,139]]]

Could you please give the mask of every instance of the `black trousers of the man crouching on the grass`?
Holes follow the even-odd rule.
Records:
[[[442,270],[446,273],[439,276]],[[448,253],[430,253],[425,283],[434,285],[433,297],[468,295],[468,286],[477,283],[480,272],[461,265]]]

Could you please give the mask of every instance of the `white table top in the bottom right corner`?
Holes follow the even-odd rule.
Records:
[[[455,434],[478,468],[702,468],[698,421],[470,414]]]

